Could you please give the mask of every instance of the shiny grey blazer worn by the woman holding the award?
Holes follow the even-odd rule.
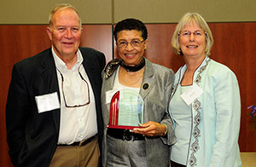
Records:
[[[168,166],[170,159],[170,146],[175,142],[173,124],[168,112],[168,103],[171,98],[171,89],[174,82],[174,72],[165,66],[151,63],[145,59],[145,71],[140,95],[143,97],[144,117],[143,123],[154,121],[167,126],[167,137],[146,137],[146,153],[148,167]],[[102,73],[103,76],[104,73]],[[107,162],[107,125],[109,123],[109,103],[106,104],[106,92],[113,89],[116,71],[102,83],[102,115],[104,122],[104,135],[102,143],[102,164]],[[148,83],[148,89],[143,89]]]

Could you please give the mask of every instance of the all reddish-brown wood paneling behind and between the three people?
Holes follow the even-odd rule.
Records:
[[[148,24],[146,57],[177,72],[183,58],[175,55],[171,37],[176,24]],[[256,136],[249,128],[247,107],[256,104],[256,23],[210,23],[214,44],[212,59],[229,66],[236,73],[241,90],[241,130],[239,145],[242,152],[256,152]],[[5,103],[15,62],[49,48],[45,25],[0,26],[0,166],[12,166],[7,153],[5,130]],[[112,59],[112,26],[84,25],[81,46],[102,51]],[[254,95],[253,95],[254,94]]]

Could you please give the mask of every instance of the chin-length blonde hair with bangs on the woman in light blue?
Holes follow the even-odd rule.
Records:
[[[207,25],[207,21],[204,20],[204,18],[197,13],[187,13],[184,14],[181,20],[179,20],[176,29],[172,35],[172,49],[177,55],[182,55],[182,51],[179,46],[179,33],[180,31],[188,24],[193,24],[196,23],[202,31],[206,32],[207,40],[206,40],[206,49],[205,53],[206,55],[211,55],[210,50],[212,49],[212,44],[213,44],[213,37],[212,37],[212,32]]]

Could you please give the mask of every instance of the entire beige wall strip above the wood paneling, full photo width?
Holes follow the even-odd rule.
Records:
[[[128,17],[173,23],[187,12],[198,12],[208,22],[256,21],[255,0],[2,0],[0,24],[47,24],[56,3],[73,4],[84,24],[111,24]]]

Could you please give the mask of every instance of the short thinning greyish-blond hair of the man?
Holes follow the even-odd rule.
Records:
[[[73,7],[73,5],[69,4],[69,3],[61,3],[61,4],[58,4],[55,6],[54,9],[51,10],[51,12],[49,13],[49,28],[51,30],[51,26],[52,26],[52,19],[53,19],[53,16],[54,14],[58,11],[58,10],[64,10],[64,9],[73,9],[79,16],[79,12],[77,9],[75,9]],[[79,16],[79,28],[82,27],[82,20]]]

